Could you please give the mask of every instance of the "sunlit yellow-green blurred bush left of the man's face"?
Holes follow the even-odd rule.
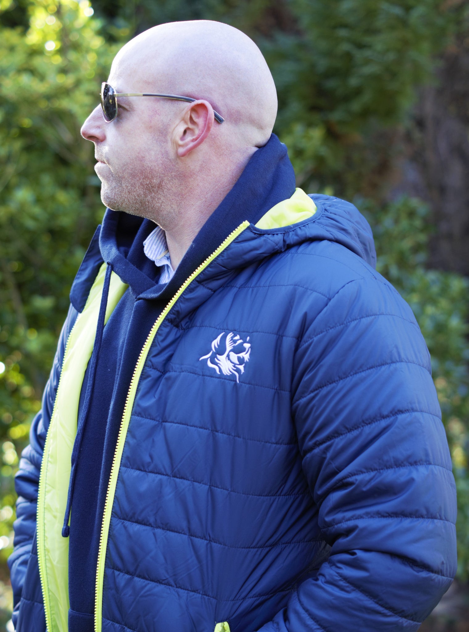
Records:
[[[0,18],[11,4],[1,1]],[[102,216],[93,151],[80,126],[116,48],[105,46],[87,0],[35,1],[25,11],[28,28],[0,26],[3,562],[13,542],[18,454],[40,408],[71,279]]]

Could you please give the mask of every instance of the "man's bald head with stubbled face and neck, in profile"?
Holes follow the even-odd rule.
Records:
[[[268,142],[277,111],[273,78],[247,35],[200,20],[162,24],[135,37],[117,53],[109,83],[117,92],[117,117],[106,123],[98,106],[81,128],[95,144],[101,199],[161,226],[177,265],[252,154]]]

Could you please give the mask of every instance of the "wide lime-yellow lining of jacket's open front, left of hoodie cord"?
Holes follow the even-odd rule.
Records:
[[[62,524],[71,471],[70,459],[76,438],[80,389],[86,365],[92,356],[105,270],[106,264],[103,263],[92,284],[86,305],[77,315],[67,337],[54,410],[42,455],[37,506],[37,550],[49,632],[66,632],[68,629],[69,540],[62,538]],[[112,272],[105,322],[127,287]]]

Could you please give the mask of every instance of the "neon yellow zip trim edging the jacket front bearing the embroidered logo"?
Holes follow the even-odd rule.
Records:
[[[116,494],[116,485],[117,485],[117,475],[119,473],[119,468],[121,466],[122,453],[124,451],[124,443],[126,441],[127,430],[129,427],[130,416],[133,408],[133,403],[135,399],[135,394],[138,386],[138,382],[140,380],[140,375],[143,370],[143,365],[145,364],[146,356],[148,355],[148,351],[150,350],[151,343],[153,343],[153,339],[162,324],[163,320],[170,312],[171,308],[174,307],[175,302],[184,292],[184,290],[191,284],[194,279],[204,270],[208,264],[210,264],[215,257],[227,248],[232,241],[237,238],[237,236],[244,231],[244,229],[249,226],[248,221],[242,222],[232,233],[227,236],[225,240],[222,241],[220,246],[218,246],[217,250],[214,250],[210,257],[207,257],[206,260],[199,265],[199,267],[194,270],[194,272],[189,276],[186,281],[182,284],[181,288],[175,293],[172,299],[169,301],[167,306],[164,308],[162,313],[158,316],[157,320],[151,327],[150,333],[146,338],[145,344],[140,351],[140,355],[138,356],[138,360],[136,366],[134,368],[134,372],[132,375],[132,379],[129,386],[129,391],[126,398],[126,403],[124,405],[124,411],[122,413],[121,427],[119,428],[119,435],[117,435],[117,444],[116,450],[114,451],[114,458],[112,459],[112,467],[110,470],[109,484],[107,486],[106,492],[106,500],[104,504],[104,513],[103,513],[103,521],[101,525],[101,535],[99,538],[99,550],[98,550],[98,564],[96,571],[96,592],[95,592],[95,632],[101,632],[102,628],[102,591],[103,591],[103,582],[104,582],[104,562],[106,557],[106,549],[107,549],[107,538],[109,536],[109,525],[110,525],[110,516],[112,513],[112,505],[114,504],[114,495]]]

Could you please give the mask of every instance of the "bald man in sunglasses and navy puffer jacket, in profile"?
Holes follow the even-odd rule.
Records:
[[[424,340],[275,116],[227,25],[114,59],[81,130],[107,210],[16,476],[18,632],[410,631],[451,583]]]

